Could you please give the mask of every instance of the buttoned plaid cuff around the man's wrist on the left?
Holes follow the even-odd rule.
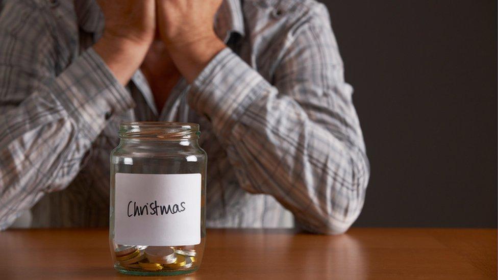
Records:
[[[130,92],[88,48],[48,86],[81,133],[96,138],[112,114],[135,106]]]

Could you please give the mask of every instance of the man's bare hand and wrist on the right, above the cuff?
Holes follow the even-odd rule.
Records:
[[[221,2],[156,0],[159,34],[171,59],[189,83],[226,47],[213,28]]]

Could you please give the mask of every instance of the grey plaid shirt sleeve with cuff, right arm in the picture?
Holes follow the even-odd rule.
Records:
[[[189,104],[211,120],[242,188],[272,195],[308,231],[343,233],[369,177],[352,87],[327,9],[296,26],[271,84],[226,48],[192,84]]]

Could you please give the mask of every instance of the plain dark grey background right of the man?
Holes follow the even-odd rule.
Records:
[[[496,1],[322,1],[371,176],[356,226],[496,227]]]

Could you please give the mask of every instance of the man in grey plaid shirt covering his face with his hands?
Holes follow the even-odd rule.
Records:
[[[355,221],[369,166],[325,6],[99,4],[0,1],[0,228],[106,226],[109,152],[132,120],[201,124],[209,227]]]

